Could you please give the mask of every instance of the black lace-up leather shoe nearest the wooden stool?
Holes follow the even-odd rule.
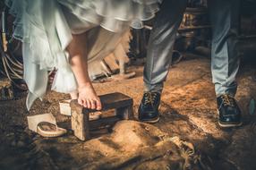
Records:
[[[145,123],[157,123],[159,121],[158,107],[161,95],[158,92],[144,93],[139,106],[139,120]]]

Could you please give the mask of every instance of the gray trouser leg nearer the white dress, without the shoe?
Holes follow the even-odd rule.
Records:
[[[175,36],[183,19],[187,0],[164,0],[156,16],[149,38],[146,64],[144,67],[145,91],[163,89],[172,61]]]

